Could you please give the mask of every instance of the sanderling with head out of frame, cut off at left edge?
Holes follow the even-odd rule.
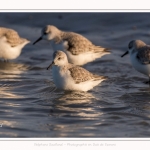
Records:
[[[15,30],[0,27],[0,58],[5,61],[17,58],[29,42],[21,38]]]

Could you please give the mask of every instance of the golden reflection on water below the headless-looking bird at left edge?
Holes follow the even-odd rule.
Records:
[[[22,81],[22,74],[28,66],[14,62],[0,61],[0,96],[1,98],[21,98],[13,91]]]

